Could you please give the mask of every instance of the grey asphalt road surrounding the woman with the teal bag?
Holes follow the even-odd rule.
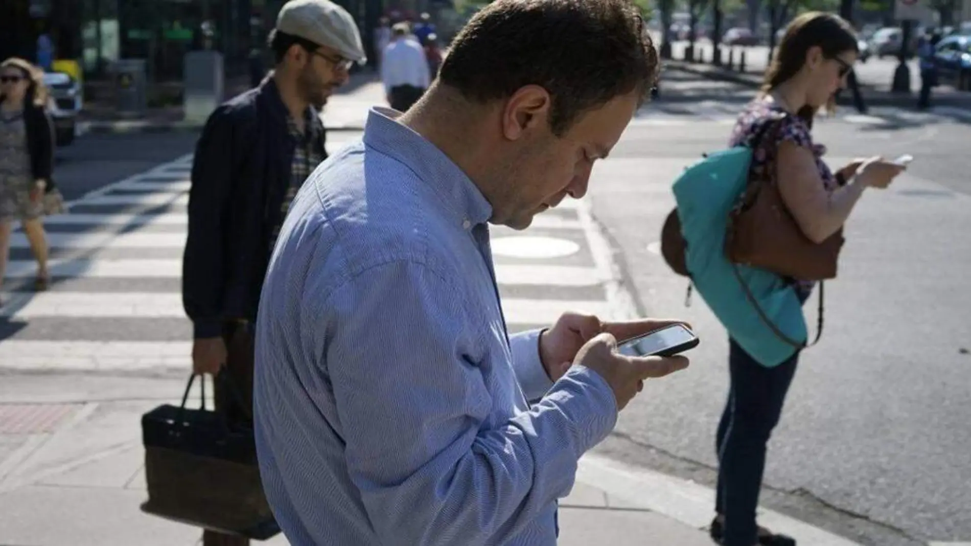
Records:
[[[711,484],[725,333],[696,293],[685,307],[686,281],[656,243],[671,183],[722,148],[730,125],[683,119],[635,123],[593,171],[594,216],[642,312],[686,318],[702,339],[692,366],[649,385],[598,451]],[[800,363],[761,500],[863,544],[971,540],[971,124],[885,111],[820,121],[816,137],[834,165],[916,159],[891,188],[868,191],[848,224],[840,277],[826,286],[825,333]],[[815,299],[806,308],[815,324]]]

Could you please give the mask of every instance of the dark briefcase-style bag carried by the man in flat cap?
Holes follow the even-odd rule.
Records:
[[[237,424],[206,409],[186,407],[195,380],[189,376],[182,405],[164,404],[142,416],[148,514],[225,534],[266,540],[280,532],[263,493],[251,424]],[[234,397],[229,373],[218,374]],[[243,407],[243,406],[241,406]]]

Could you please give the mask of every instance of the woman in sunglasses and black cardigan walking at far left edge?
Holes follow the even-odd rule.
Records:
[[[34,290],[50,282],[42,217],[46,197],[59,195],[50,179],[55,144],[47,104],[41,69],[16,57],[0,63],[0,284],[18,220],[37,260]]]

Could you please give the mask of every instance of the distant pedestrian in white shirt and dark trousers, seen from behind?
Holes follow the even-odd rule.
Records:
[[[395,24],[391,28],[393,41],[385,49],[381,63],[387,103],[399,112],[411,108],[431,85],[428,59],[418,41],[409,39],[410,34],[408,23]]]

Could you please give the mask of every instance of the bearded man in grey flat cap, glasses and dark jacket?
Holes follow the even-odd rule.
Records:
[[[352,63],[366,61],[353,17],[328,0],[287,2],[270,48],[274,70],[220,105],[196,144],[183,263],[193,371],[224,371],[248,407],[219,381],[217,408],[248,422],[252,324],[267,263],[296,190],[327,157],[318,111]],[[203,537],[205,546],[248,543],[209,530]]]

